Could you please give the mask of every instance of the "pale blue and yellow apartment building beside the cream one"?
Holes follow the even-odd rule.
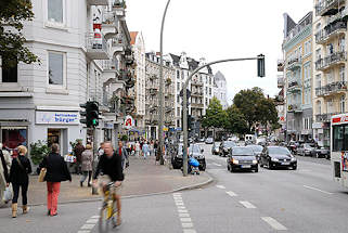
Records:
[[[312,12],[295,23],[284,14],[287,140],[312,139]]]

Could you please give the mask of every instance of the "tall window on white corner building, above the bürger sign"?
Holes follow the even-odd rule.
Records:
[[[49,52],[49,85],[64,85],[64,55]]]

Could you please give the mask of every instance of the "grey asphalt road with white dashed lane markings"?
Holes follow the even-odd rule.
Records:
[[[225,158],[202,145],[216,182],[181,193],[123,200],[124,224],[115,232],[347,233],[348,193],[332,182],[330,161],[299,157],[298,170],[258,173],[227,170]],[[100,203],[66,204],[57,217],[37,206],[10,218],[0,209],[0,232],[98,232]]]

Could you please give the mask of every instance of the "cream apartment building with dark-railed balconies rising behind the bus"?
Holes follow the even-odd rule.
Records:
[[[347,1],[315,0],[313,129],[319,145],[330,145],[330,122],[347,112]]]

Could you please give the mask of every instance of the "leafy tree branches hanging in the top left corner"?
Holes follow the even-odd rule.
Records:
[[[38,56],[24,47],[23,22],[33,21],[30,0],[5,0],[0,2],[0,56],[2,65],[13,67],[17,62],[31,64]]]

